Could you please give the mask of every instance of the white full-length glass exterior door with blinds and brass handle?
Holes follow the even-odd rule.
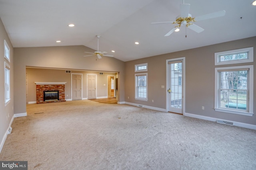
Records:
[[[183,114],[183,60],[168,61],[168,111]]]

